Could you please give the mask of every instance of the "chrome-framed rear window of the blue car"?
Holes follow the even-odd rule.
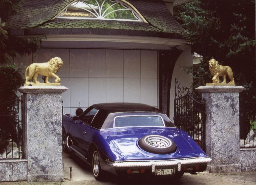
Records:
[[[136,127],[136,126],[164,126],[161,116],[157,115],[136,115],[117,116],[114,120],[114,127]]]

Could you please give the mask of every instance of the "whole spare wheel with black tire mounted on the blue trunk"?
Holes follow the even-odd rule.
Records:
[[[153,154],[170,154],[176,151],[174,141],[164,136],[147,135],[139,139],[139,147]]]

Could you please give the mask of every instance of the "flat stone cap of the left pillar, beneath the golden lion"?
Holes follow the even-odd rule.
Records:
[[[23,86],[18,89],[21,93],[64,93],[65,86]]]

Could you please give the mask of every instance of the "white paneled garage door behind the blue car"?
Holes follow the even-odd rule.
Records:
[[[106,102],[158,106],[157,51],[49,48],[38,50],[31,59],[42,63],[55,56],[64,62],[57,75],[69,88],[63,93],[64,113]]]

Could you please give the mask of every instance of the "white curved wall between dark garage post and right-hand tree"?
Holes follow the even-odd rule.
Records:
[[[170,91],[170,119],[173,120],[174,116],[174,90],[175,90],[175,78],[178,79],[178,83],[182,84],[185,87],[190,87],[192,85],[192,76],[187,74],[182,69],[183,66],[192,66],[193,58],[191,54],[191,47],[185,49],[179,58],[173,69],[173,76],[171,78],[171,91]]]

